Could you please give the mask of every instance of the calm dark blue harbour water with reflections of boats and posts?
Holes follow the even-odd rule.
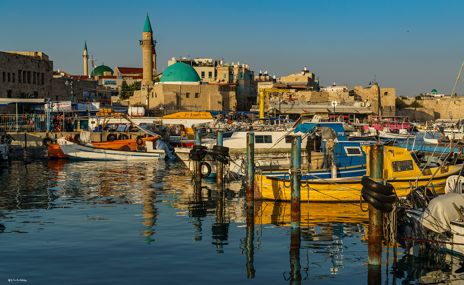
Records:
[[[256,203],[247,234],[241,184],[226,184],[223,196],[214,180],[204,179],[196,189],[180,160],[78,162],[30,150],[18,155],[0,164],[0,211],[6,216],[0,219],[0,282],[293,283],[289,203]],[[367,214],[359,206],[303,203],[300,238],[303,283],[367,284]],[[441,278],[434,282],[459,279],[437,256],[398,251],[393,270],[393,254],[387,262],[384,250],[382,283],[416,284],[433,272]]]

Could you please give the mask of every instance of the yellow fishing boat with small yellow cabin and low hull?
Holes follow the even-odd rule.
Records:
[[[367,175],[369,175],[369,148],[370,146],[363,146],[363,151],[367,153]],[[393,185],[398,196],[409,194],[411,185],[416,188],[425,184],[433,188],[437,194],[445,193],[446,178],[458,174],[462,167],[462,165],[442,165],[421,169],[408,150],[394,146],[383,146],[383,157],[383,177]],[[290,179],[285,177],[274,177],[272,173],[256,174],[255,197],[290,201]],[[303,201],[360,201],[362,177],[310,178],[312,178],[310,175],[303,173],[300,192],[302,203]]]

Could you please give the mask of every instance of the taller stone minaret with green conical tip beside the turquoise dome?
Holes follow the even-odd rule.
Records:
[[[145,19],[145,26],[143,27],[143,39],[140,41],[143,53],[143,80],[142,85],[153,85],[153,70],[155,69],[154,50],[155,44],[153,43],[153,31],[151,30],[150,19]]]

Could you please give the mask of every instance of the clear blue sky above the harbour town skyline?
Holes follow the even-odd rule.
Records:
[[[277,77],[306,65],[322,86],[367,87],[375,76],[380,88],[415,96],[451,94],[464,60],[459,1],[16,3],[0,1],[0,51],[42,51],[73,75],[84,73],[84,40],[97,65],[142,67],[147,12],[158,72],[179,56],[239,61]],[[464,83],[455,92],[464,95]]]

